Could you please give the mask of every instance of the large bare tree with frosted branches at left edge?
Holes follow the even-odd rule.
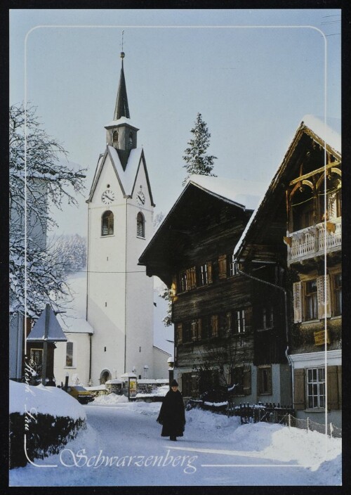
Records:
[[[11,314],[36,318],[49,302],[60,309],[69,288],[65,261],[47,249],[46,231],[56,226],[52,209],[77,205],[84,169],[69,167],[67,152],[41,129],[36,109],[10,108]],[[65,160],[65,161],[64,161]]]

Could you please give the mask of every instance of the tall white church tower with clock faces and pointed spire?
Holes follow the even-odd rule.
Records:
[[[124,52],[114,117],[105,126],[88,200],[86,319],[91,338],[93,385],[122,373],[152,378],[153,281],[138,266],[152,238],[154,201],[138,127],[131,122]]]

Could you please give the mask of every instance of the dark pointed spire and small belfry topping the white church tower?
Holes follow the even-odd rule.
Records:
[[[123,169],[126,169],[128,158],[133,148],[137,147],[138,128],[130,121],[126,79],[124,78],[124,51],[121,52],[122,66],[119,77],[116,106],[113,121],[105,126],[107,129],[107,145],[113,146],[119,155]]]

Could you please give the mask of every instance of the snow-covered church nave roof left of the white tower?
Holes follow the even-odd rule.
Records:
[[[67,333],[94,333],[93,327],[86,321],[86,273],[68,276],[67,285],[73,300],[65,314],[57,315],[62,330]]]

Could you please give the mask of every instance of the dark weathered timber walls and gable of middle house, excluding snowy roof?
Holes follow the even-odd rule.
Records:
[[[171,289],[175,369],[185,397],[222,390],[224,398],[232,388],[238,403],[283,400],[286,387],[279,383],[274,390],[272,371],[286,363],[282,293],[247,277],[246,261],[233,262],[251,215],[252,210],[190,183],[140,257],[147,274]],[[275,260],[283,255],[274,240],[282,239],[286,224],[280,230],[277,225],[274,219],[270,233],[256,243],[268,266],[255,264],[253,271],[271,284],[282,279]],[[220,400],[220,394],[211,397]],[[289,404],[289,394],[284,397]]]

